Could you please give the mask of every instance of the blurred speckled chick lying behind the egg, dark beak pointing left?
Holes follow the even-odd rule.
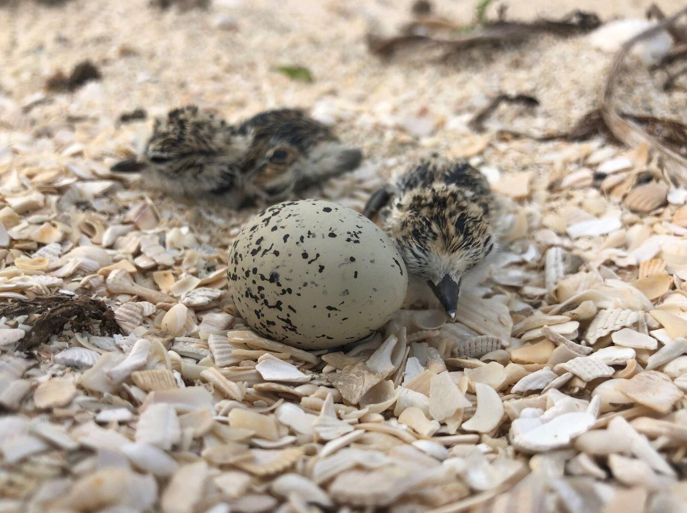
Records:
[[[142,172],[147,183],[170,194],[240,208],[283,201],[357,168],[361,158],[299,110],[267,111],[231,125],[185,106],[155,122],[141,157],[112,170]]]

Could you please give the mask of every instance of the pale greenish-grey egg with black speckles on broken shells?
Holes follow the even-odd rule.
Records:
[[[302,349],[366,337],[401,308],[408,286],[401,255],[379,227],[319,200],[279,203],[251,219],[227,275],[251,328]]]

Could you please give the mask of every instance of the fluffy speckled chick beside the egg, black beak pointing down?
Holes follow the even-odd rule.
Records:
[[[426,282],[455,320],[461,280],[495,248],[495,198],[464,161],[423,160],[370,197],[411,275]]]

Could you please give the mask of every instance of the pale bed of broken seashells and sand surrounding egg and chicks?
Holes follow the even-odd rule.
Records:
[[[646,148],[466,126],[499,89],[543,104],[499,109],[502,123],[572,126],[611,56],[543,36],[458,64],[382,62],[366,23],[400,25],[409,5],[283,4],[0,8],[0,298],[87,295],[117,323],[108,336],[70,321],[15,352],[36,317],[0,319],[0,512],[687,510],[687,191],[635,187],[640,173],[663,183]],[[597,4],[508,3],[508,16],[643,16]],[[472,8],[438,7],[464,21]],[[43,90],[86,58],[102,80]],[[315,82],[273,71],[289,62]],[[685,121],[671,111],[684,91],[663,93],[640,62],[625,73],[628,111]],[[410,290],[374,337],[338,351],[259,337],[226,282],[254,211],[109,172],[150,130],[123,112],[188,102],[231,120],[307,106],[368,156],[311,196],[358,210],[419,155],[469,158],[514,196],[499,262],[462,291],[456,323]],[[600,169],[613,172],[599,189]]]

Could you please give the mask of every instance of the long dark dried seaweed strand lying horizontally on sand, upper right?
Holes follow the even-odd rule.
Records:
[[[600,24],[596,14],[579,10],[557,20],[538,19],[532,23],[499,20],[493,23],[484,23],[483,27],[475,30],[471,30],[471,27],[453,24],[450,21],[433,18],[416,19],[408,25],[405,34],[383,38],[368,33],[367,42],[370,52],[383,57],[390,57],[396,50],[414,45],[442,48],[445,54],[450,55],[477,46],[523,43],[538,34],[553,34],[559,37],[574,36],[594,30]],[[454,32],[462,31],[462,33],[440,38],[414,33],[414,30],[419,27],[429,30],[441,28]]]

